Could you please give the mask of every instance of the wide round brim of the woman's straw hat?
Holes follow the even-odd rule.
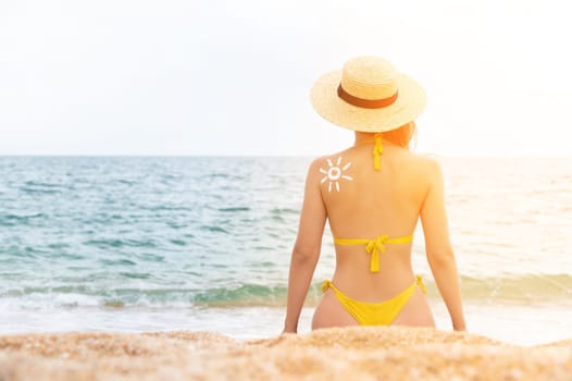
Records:
[[[322,75],[312,87],[310,98],[314,110],[326,121],[340,127],[362,132],[385,132],[415,120],[425,109],[425,91],[411,77],[396,78],[398,97],[395,103],[382,109],[364,109],[338,97],[341,71]]]

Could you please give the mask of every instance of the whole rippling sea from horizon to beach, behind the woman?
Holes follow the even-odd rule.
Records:
[[[572,158],[435,157],[468,330],[572,339]],[[0,157],[0,334],[282,332],[312,158]],[[335,257],[326,229],[300,317]],[[413,267],[451,330],[418,226]]]

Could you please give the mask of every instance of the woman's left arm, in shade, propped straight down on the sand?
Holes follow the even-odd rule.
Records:
[[[283,333],[296,333],[298,331],[298,319],[322,247],[326,210],[320,192],[318,170],[316,161],[314,161],[310,165],[306,179],[300,225],[290,259],[288,302]]]

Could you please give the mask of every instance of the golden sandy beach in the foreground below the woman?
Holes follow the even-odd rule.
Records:
[[[188,331],[0,336],[0,381],[190,379],[571,380],[572,340],[524,347],[405,328],[328,329],[252,341]]]

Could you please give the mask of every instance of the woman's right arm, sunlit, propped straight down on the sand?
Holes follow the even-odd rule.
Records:
[[[443,174],[437,162],[430,162],[430,187],[421,209],[421,223],[425,235],[425,250],[433,276],[437,283],[456,331],[467,329],[461,302],[457,263],[449,238],[445,210]]]

